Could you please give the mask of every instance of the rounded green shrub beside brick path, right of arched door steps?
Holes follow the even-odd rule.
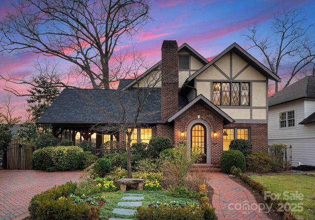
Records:
[[[230,173],[231,167],[240,168],[242,172],[246,169],[246,160],[242,152],[238,150],[227,150],[221,156],[221,170],[223,173]]]

